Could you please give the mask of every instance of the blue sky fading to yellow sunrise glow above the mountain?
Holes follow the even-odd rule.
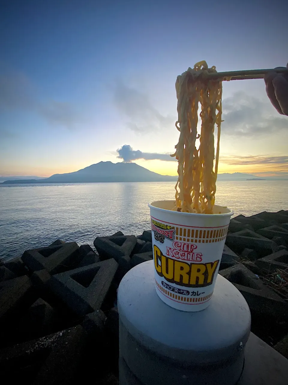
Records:
[[[287,11],[283,0],[2,1],[0,175],[123,159],[177,175],[177,75],[200,60],[285,67]],[[223,82],[222,109],[218,172],[288,177],[288,117],[263,79]]]

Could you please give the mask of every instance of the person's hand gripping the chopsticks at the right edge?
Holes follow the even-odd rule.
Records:
[[[286,65],[288,68],[288,63]],[[285,68],[285,67],[277,67]],[[270,102],[281,115],[288,116],[288,74],[271,71],[264,76],[266,94]]]

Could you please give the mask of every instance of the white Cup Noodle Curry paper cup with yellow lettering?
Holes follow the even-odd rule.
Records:
[[[175,201],[150,203],[156,292],[167,305],[184,311],[209,306],[233,212],[171,211]]]

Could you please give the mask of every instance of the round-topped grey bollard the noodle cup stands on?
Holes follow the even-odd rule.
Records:
[[[153,269],[141,263],[119,285],[119,385],[234,385],[250,334],[242,294],[218,275],[206,309],[176,310],[157,295]]]

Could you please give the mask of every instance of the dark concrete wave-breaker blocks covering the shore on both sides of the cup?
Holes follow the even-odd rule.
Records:
[[[96,238],[94,248],[56,240],[0,261],[2,375],[117,384],[117,288],[129,269],[152,259],[153,234],[118,231]],[[288,358],[288,211],[231,219],[219,274],[245,297],[251,331]]]

